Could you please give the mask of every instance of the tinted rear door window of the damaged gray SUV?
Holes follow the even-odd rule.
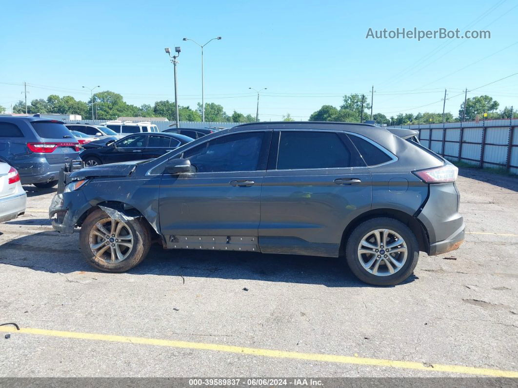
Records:
[[[284,131],[280,134],[277,169],[347,168],[357,158],[334,132]]]

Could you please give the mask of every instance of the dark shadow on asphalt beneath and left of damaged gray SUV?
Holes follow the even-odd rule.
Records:
[[[78,249],[78,236],[39,232],[0,245],[0,264],[36,271],[71,274],[98,272]],[[37,254],[34,254],[37,253]],[[127,272],[131,275],[189,278],[249,279],[268,282],[322,284],[327,287],[373,287],[359,281],[341,258],[261,254],[255,252],[164,250],[151,247],[145,260]],[[120,276],[107,274],[107,276]],[[417,279],[411,276],[404,283]]]

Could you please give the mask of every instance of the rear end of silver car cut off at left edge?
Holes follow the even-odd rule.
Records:
[[[22,188],[16,168],[0,162],[0,222],[25,213],[27,194]]]

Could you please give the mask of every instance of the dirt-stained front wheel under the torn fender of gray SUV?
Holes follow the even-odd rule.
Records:
[[[87,262],[102,271],[124,272],[140,264],[151,246],[146,221],[114,220],[103,210],[91,213],[79,234]]]

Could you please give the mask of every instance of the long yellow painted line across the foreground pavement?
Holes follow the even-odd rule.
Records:
[[[291,358],[293,360],[321,361],[321,362],[328,362],[328,363],[368,365],[368,366],[391,367],[391,368],[402,368],[402,369],[417,369],[417,370],[426,370],[426,371],[435,371],[435,372],[464,373],[465,375],[518,378],[518,371],[512,371],[512,370],[487,369],[487,368],[477,368],[477,367],[471,367],[471,366],[445,365],[445,364],[433,364],[431,366],[425,366],[423,363],[413,362],[413,361],[394,361],[394,360],[383,360],[381,358],[366,358],[366,357],[342,356],[342,355],[321,354],[321,353],[300,353],[300,352],[290,352],[290,351],[284,351],[284,350],[246,348],[246,347],[224,345],[224,344],[218,344],[218,343],[175,341],[175,340],[167,340],[167,339],[126,337],[126,336],[93,334],[93,333],[62,332],[62,331],[58,331],[58,330],[46,330],[46,329],[38,329],[38,328],[30,328],[30,327],[20,328],[20,330],[18,331],[14,327],[0,326],[0,332],[10,332],[10,333],[15,332],[15,333],[34,334],[34,335],[50,336],[50,337],[89,339],[89,340],[96,340],[96,341],[123,342],[123,343],[132,343],[132,344],[138,343],[138,344],[142,344],[142,345],[165,346],[165,347],[170,347],[170,348],[211,350],[211,351],[217,351],[217,352],[237,353],[237,354],[246,354],[246,355],[253,355],[253,356]]]

